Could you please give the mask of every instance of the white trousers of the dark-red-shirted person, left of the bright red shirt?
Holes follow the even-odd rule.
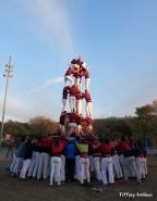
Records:
[[[46,152],[41,152],[39,155],[39,164],[37,171],[37,179],[43,178],[46,179],[48,176],[48,164],[49,164],[49,154]]]

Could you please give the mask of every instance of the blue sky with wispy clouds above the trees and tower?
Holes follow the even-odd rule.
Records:
[[[80,54],[93,117],[134,115],[157,98],[156,11],[156,0],[0,0],[0,111],[10,54],[13,64],[5,121],[58,121],[63,76]]]

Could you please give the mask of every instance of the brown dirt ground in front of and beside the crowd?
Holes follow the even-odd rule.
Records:
[[[4,158],[5,150],[0,149],[0,201],[116,201],[116,200],[155,200],[157,201],[157,156],[148,156],[148,177],[141,185],[135,180],[128,184],[116,181],[101,192],[78,184],[65,184],[61,187],[49,187],[48,180],[20,180],[11,177],[8,167],[10,159]],[[96,184],[94,185],[96,187]],[[121,197],[120,193],[132,193],[134,198]],[[147,193],[152,197],[140,197]]]

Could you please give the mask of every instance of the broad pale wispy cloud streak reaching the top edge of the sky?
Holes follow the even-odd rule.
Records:
[[[56,42],[67,52],[73,52],[70,17],[63,1],[59,0],[16,0],[31,17],[29,27],[43,36],[51,46]],[[57,48],[60,48],[57,47]]]

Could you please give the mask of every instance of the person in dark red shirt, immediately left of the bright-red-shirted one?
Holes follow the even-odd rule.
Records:
[[[37,179],[41,179],[41,176],[44,179],[47,179],[48,177],[48,166],[49,166],[49,160],[50,160],[50,152],[51,152],[51,145],[52,139],[50,136],[44,137],[40,140],[41,145],[41,152],[39,156],[39,164],[38,164],[38,171],[37,171]]]

